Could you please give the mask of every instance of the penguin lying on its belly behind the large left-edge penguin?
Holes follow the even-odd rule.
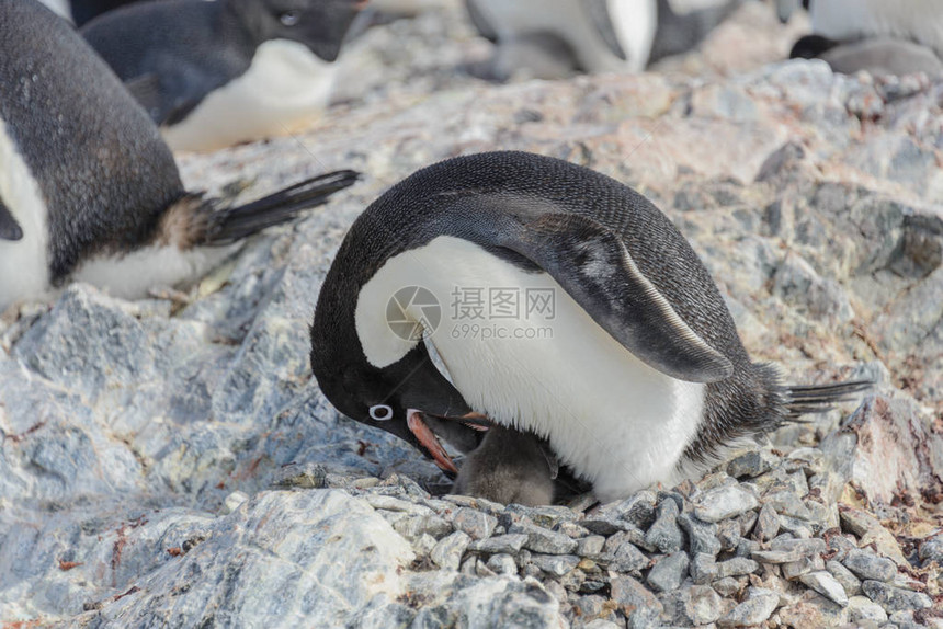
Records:
[[[158,0],[81,33],[174,150],[284,135],[328,104],[363,0]]]

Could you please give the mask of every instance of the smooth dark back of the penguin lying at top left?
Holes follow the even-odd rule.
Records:
[[[92,20],[81,33],[122,81],[155,81],[141,99],[158,124],[184,118],[213,90],[241,76],[258,42],[226,0],[160,0]]]

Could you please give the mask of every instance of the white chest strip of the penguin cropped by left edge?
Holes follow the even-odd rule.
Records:
[[[0,239],[0,312],[49,289],[48,211],[38,183],[0,119],[0,201],[23,230]]]

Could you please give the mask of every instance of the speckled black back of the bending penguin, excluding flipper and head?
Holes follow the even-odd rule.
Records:
[[[714,279],[674,225],[632,188],[566,161],[507,151],[458,157],[418,171],[360,216],[326,279],[338,288],[333,295],[322,291],[321,299],[356,295],[389,258],[442,235],[465,238],[529,268],[529,261],[495,248],[495,230],[501,213],[544,211],[580,215],[616,233],[681,319],[734,365],[732,376],[707,385],[706,421],[686,458],[703,460],[719,445],[783,421],[785,399],[776,374],[750,362]],[[448,261],[442,264],[447,268]],[[536,271],[532,264],[530,270]],[[356,299],[345,301],[355,305]]]

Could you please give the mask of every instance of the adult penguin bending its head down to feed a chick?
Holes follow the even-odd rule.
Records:
[[[554,317],[487,321],[524,330],[525,341],[463,336],[443,319],[425,342],[450,382],[422,339],[387,323],[404,286],[442,302],[462,287],[549,291]],[[428,321],[423,308],[404,313]],[[552,338],[526,332],[542,325]],[[444,469],[424,416],[526,431],[604,501],[673,483],[864,386],[781,385],[772,367],[750,362],[704,265],[650,202],[522,152],[447,160],[374,202],[338,251],[310,332],[314,375],[344,414]]]

